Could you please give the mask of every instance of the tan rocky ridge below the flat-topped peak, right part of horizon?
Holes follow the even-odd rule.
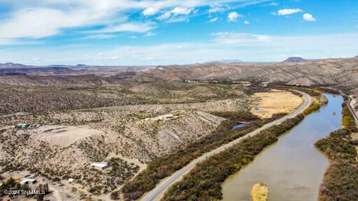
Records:
[[[350,59],[289,59],[281,63],[195,64],[158,66],[141,76],[163,80],[242,80],[310,85],[357,85],[358,57]]]

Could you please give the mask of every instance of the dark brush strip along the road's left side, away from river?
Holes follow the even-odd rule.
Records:
[[[155,188],[161,179],[169,177],[195,158],[220,147],[222,144],[226,144],[238,137],[255,131],[264,124],[278,119],[285,114],[275,115],[275,117],[271,119],[258,119],[258,117],[250,112],[217,112],[215,115],[224,117],[227,121],[223,121],[210,135],[206,135],[182,149],[177,149],[171,154],[155,158],[148,163],[147,168],[143,170],[143,172],[139,173],[134,179],[124,184],[121,188],[124,200],[138,200],[144,193]],[[245,128],[231,131],[232,126],[243,121],[249,122]],[[120,192],[114,191],[111,194],[111,198],[114,200],[117,199],[119,197],[118,193]]]

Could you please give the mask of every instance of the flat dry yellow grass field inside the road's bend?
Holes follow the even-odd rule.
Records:
[[[262,118],[270,118],[280,112],[293,112],[303,99],[288,91],[258,92],[252,96],[250,103],[252,114]],[[258,110],[257,110],[258,109]]]

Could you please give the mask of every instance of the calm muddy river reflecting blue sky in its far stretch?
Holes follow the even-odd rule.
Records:
[[[342,96],[326,94],[326,97],[327,105],[309,114],[224,182],[224,201],[251,200],[251,188],[257,183],[268,186],[270,201],[317,201],[328,161],[314,143],[341,128],[342,117]]]

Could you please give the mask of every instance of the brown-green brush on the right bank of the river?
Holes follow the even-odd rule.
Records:
[[[320,188],[320,201],[358,200],[358,162],[354,147],[358,143],[350,137],[352,132],[357,133],[357,127],[354,120],[350,120],[353,117],[347,105],[342,106],[344,128],[315,143],[330,162]]]

